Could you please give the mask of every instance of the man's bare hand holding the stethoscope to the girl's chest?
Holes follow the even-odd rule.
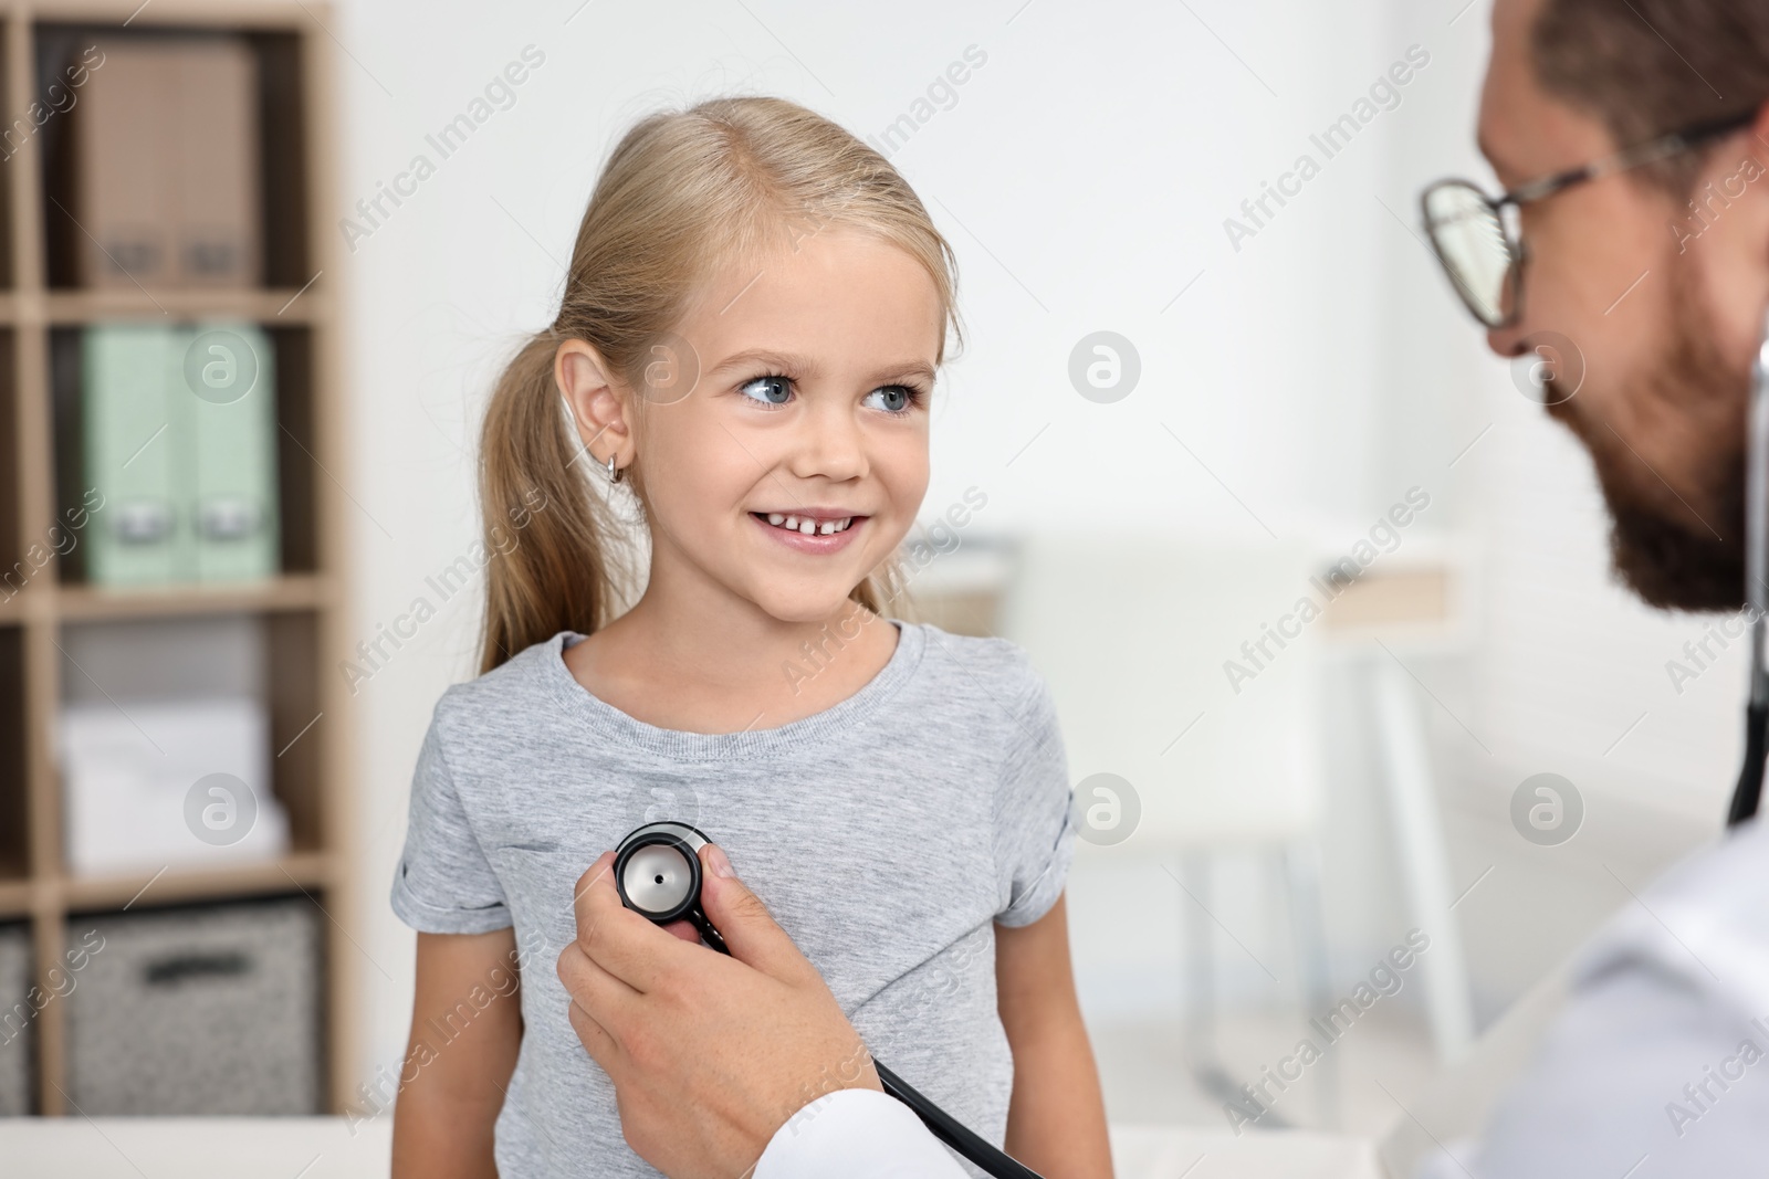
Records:
[[[879,1089],[872,1057],[816,967],[701,848],[701,907],[731,956],[688,923],[621,905],[614,852],[577,882],[577,940],[559,955],[571,1027],[614,1080],[633,1151],[670,1179],[731,1179],[793,1114],[837,1089]]]

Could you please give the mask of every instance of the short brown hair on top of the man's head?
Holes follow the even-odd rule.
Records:
[[[1530,58],[1544,90],[1596,115],[1617,148],[1627,148],[1769,101],[1769,4],[1543,0]],[[1716,147],[1647,164],[1640,175],[1684,196]]]

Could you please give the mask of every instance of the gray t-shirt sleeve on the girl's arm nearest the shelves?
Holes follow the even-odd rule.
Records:
[[[511,924],[502,884],[462,806],[435,721],[412,774],[393,912],[419,933],[488,933]]]

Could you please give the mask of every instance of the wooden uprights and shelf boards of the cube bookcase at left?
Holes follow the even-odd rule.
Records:
[[[299,85],[301,175],[304,180],[302,224],[311,281],[276,290],[149,290],[97,292],[51,290],[46,285],[46,219],[41,136],[30,136],[9,159],[0,161],[0,214],[9,274],[0,272],[0,414],[11,421],[0,430],[0,541],[18,551],[0,553],[0,567],[25,559],[57,521],[58,497],[53,456],[55,417],[50,371],[50,332],[94,320],[188,322],[242,318],[265,329],[301,329],[310,355],[311,435],[304,447],[329,477],[313,479],[313,569],[262,583],[196,585],[175,590],[115,592],[87,585],[62,585],[51,560],[25,587],[0,592],[0,631],[18,635],[18,668],[0,663],[0,675],[21,682],[12,688],[23,702],[27,875],[5,875],[0,864],[0,921],[28,921],[35,955],[37,985],[48,988],[48,969],[62,960],[64,930],[71,914],[145,909],[156,903],[232,900],[267,893],[304,893],[325,910],[325,1068],[327,1108],[343,1112],[356,1084],[356,1045],[361,1008],[361,951],[357,949],[357,891],[352,856],[352,707],[343,679],[334,668],[348,658],[354,640],[347,617],[345,574],[348,569],[347,500],[334,479],[347,479],[347,447],[341,398],[341,341],[336,300],[340,255],[336,246],[338,140],[334,118],[333,14],[320,2],[255,0],[0,0],[0,127],[25,115],[35,99],[35,30],[39,25],[92,25],[108,32],[140,28],[203,28],[246,34],[280,34],[294,39]],[[62,115],[57,115],[62,117]],[[269,226],[267,226],[269,232]],[[313,742],[308,757],[317,764],[317,847],[297,843],[288,856],[262,863],[205,871],[142,871],[103,879],[80,879],[62,868],[62,806],[55,760],[57,716],[62,702],[60,636],[65,626],[126,619],[205,617],[251,613],[265,619],[301,617],[313,635],[313,693],[325,718],[302,737]],[[274,626],[274,624],[272,624]],[[302,635],[306,629],[301,631]],[[0,691],[4,702],[7,691]],[[0,771],[4,774],[5,771]],[[0,778],[0,792],[16,783]],[[11,811],[0,811],[0,815]],[[145,886],[145,887],[143,887]],[[65,1004],[44,1006],[34,1022],[37,1038],[37,1108],[64,1115],[67,1068]]]

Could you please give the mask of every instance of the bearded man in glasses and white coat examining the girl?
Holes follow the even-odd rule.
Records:
[[[1769,0],[1497,0],[1479,143],[1505,193],[1426,196],[1458,293],[1497,354],[1548,362],[1548,414],[1590,451],[1620,580],[1666,610],[1737,610],[1769,311]],[[854,1029],[724,856],[702,856],[736,958],[623,910],[609,857],[559,958],[633,1149],[674,1179],[962,1175],[854,1066]],[[1762,1174],[1765,1053],[1769,834],[1751,820],[1599,935],[1486,1140],[1440,1170]],[[807,1085],[835,1091],[807,1105]]]

